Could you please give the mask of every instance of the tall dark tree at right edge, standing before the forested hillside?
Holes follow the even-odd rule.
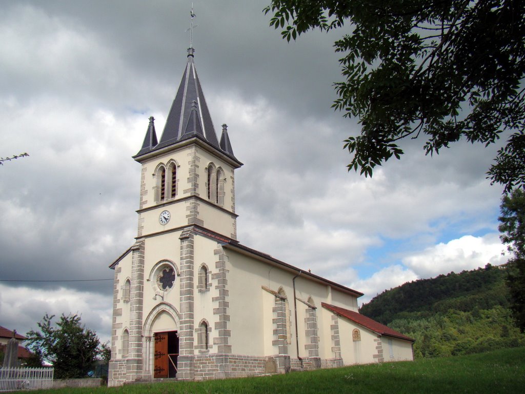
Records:
[[[520,331],[525,332],[525,192],[512,191],[501,200],[501,241],[513,254],[507,263],[507,285],[510,291],[513,318]]]

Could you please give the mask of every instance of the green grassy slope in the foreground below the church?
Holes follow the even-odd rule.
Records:
[[[360,365],[257,378],[61,389],[55,393],[520,393],[525,387],[525,348],[482,354]],[[34,391],[49,394],[51,390]]]

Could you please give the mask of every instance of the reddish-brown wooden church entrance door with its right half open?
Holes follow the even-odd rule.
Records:
[[[178,335],[177,331],[155,333],[154,378],[175,378],[177,375]]]

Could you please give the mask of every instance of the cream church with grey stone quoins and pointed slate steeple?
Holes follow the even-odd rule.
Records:
[[[164,130],[153,117],[135,243],[114,261],[109,386],[412,360],[414,340],[358,313],[359,291],[237,240],[235,156],[194,64]],[[242,187],[242,185],[239,185]]]

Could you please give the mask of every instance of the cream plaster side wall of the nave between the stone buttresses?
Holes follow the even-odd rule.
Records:
[[[231,316],[230,327],[232,337],[230,344],[234,354],[250,354],[255,356],[269,356],[278,353],[277,346],[272,345],[274,340],[272,323],[274,314],[272,308],[275,306],[275,296],[264,291],[261,286],[266,286],[274,291],[282,287],[288,297],[290,310],[290,334],[291,342],[288,344],[288,354],[297,356],[296,329],[293,305],[292,279],[295,273],[285,271],[278,266],[262,262],[256,258],[226,249],[229,257],[229,314]],[[317,307],[317,322],[319,335],[319,356],[321,358],[333,358],[332,338],[330,325],[331,313],[323,310],[322,302],[331,302],[329,286],[312,281],[306,276],[296,279],[296,296],[305,301],[311,296]],[[339,305],[352,309],[357,304],[353,296],[340,296],[347,304],[339,302]],[[307,306],[297,302],[298,312],[298,337],[299,355],[307,357],[308,351],[304,349],[306,344],[304,317]],[[254,338],[256,338],[254,340]],[[260,339],[263,338],[263,339]]]

